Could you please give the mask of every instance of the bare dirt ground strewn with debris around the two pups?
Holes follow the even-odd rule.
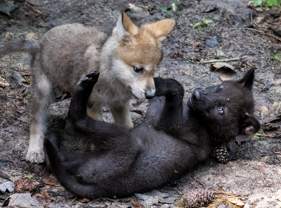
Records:
[[[138,8],[130,9],[129,3]],[[270,30],[270,26],[279,25],[279,8],[257,11],[249,7],[246,0],[179,0],[178,11],[161,12],[162,8],[170,8],[172,3],[173,1],[168,0],[18,0],[14,2],[18,8],[11,12],[11,18],[1,13],[0,45],[12,39],[36,40],[52,27],[75,22],[99,27],[110,35],[120,10],[126,11],[138,23],[172,18],[177,21],[177,25],[163,42],[165,58],[156,73],[163,78],[177,79],[186,90],[184,99],[191,95],[194,87],[217,85],[225,78],[237,80],[254,67],[256,116],[261,118],[261,106],[270,109],[274,102],[281,102],[281,62],[274,58],[275,55],[281,55],[280,35]],[[194,29],[193,25],[202,22],[203,18],[213,22],[202,29]],[[224,53],[222,59],[244,57],[227,62],[236,67],[237,73],[228,70],[210,71],[210,63],[203,63],[218,59],[220,51],[217,50]],[[33,90],[28,54],[2,56],[0,71],[1,83],[8,83],[6,87],[0,87],[0,171],[13,182],[23,176],[33,175],[37,185],[30,193],[39,201],[37,207],[118,206],[116,203],[110,205],[113,201],[108,199],[84,201],[75,198],[54,182],[52,173],[44,164],[25,161]],[[52,104],[48,128],[60,131],[63,138],[61,149],[68,152],[89,152],[90,147],[86,142],[64,134],[69,102],[69,95],[64,94]],[[134,123],[140,123],[145,117],[146,106],[145,100],[132,100],[131,114]],[[108,109],[104,109],[104,118],[112,122]],[[226,164],[210,158],[197,169],[157,190],[174,197],[198,190],[222,188],[243,195],[241,200],[248,200],[250,207],[280,207],[277,205],[281,201],[280,126],[280,120],[271,121],[267,126],[263,125],[259,132],[270,136],[253,136],[241,143],[236,141],[229,144],[232,151],[234,149],[234,158]],[[51,183],[47,184],[46,177],[51,178]],[[0,184],[6,181],[8,180],[0,178]],[[36,193],[41,192],[47,192],[53,200],[50,202],[44,197],[36,197]],[[0,203],[9,195],[11,194],[0,192]],[[124,203],[138,201],[134,196],[113,200]]]

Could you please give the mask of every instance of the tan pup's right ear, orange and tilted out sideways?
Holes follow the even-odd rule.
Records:
[[[154,32],[156,37],[162,41],[176,26],[176,21],[171,19],[160,20],[147,25]]]

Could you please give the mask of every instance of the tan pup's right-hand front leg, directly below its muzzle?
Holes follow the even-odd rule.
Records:
[[[130,115],[130,102],[126,102],[124,106],[119,108],[111,108],[115,123],[127,126],[128,128],[133,127],[133,122]]]

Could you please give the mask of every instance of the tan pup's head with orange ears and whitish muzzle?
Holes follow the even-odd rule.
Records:
[[[137,27],[125,13],[117,21],[111,37],[115,46],[114,74],[118,74],[118,79],[139,99],[155,95],[153,75],[163,59],[161,41],[175,25],[174,20],[164,19]]]

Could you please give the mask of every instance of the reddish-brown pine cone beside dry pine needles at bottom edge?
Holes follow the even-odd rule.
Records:
[[[186,208],[204,207],[209,204],[215,198],[212,191],[201,191],[198,193],[185,194],[183,196],[183,202]]]

